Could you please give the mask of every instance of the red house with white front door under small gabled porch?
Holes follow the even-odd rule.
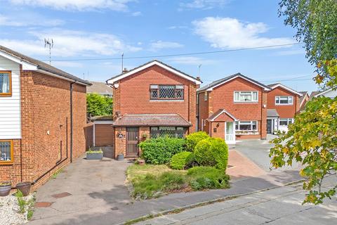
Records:
[[[198,130],[235,143],[265,139],[268,86],[240,73],[198,89]]]

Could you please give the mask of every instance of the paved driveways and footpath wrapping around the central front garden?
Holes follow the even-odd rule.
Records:
[[[268,154],[269,145],[266,141],[244,141],[230,150],[229,189],[173,193],[152,200],[129,198],[124,184],[128,161],[79,158],[56,179],[39,188],[37,206],[40,207],[35,209],[29,224],[98,224],[98,221],[99,224],[119,224],[146,214],[284,186],[301,179],[296,168],[270,172],[261,166],[267,165],[262,155]],[[261,155],[261,159],[253,154]],[[269,162],[269,158],[267,160]]]

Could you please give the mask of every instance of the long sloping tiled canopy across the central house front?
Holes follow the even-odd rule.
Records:
[[[169,114],[126,114],[112,124],[113,127],[191,127],[183,117]]]

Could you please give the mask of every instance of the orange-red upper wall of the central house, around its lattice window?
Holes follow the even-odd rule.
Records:
[[[151,84],[183,84],[184,101],[150,101]],[[119,81],[119,87],[113,91],[114,113],[177,113],[192,122],[190,131],[194,131],[196,88],[197,85],[187,79],[154,65]]]

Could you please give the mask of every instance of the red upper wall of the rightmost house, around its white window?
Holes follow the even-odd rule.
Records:
[[[293,105],[275,105],[275,96],[293,96]],[[275,108],[280,118],[293,118],[300,110],[300,98],[298,95],[278,86],[267,93],[267,108]]]

